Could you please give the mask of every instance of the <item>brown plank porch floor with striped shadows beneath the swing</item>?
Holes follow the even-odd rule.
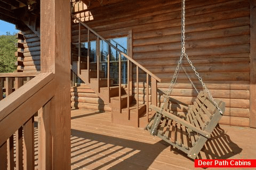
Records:
[[[193,160],[166,142],[110,119],[109,112],[71,111],[71,169],[194,169]],[[199,158],[255,159],[255,132],[220,125]]]

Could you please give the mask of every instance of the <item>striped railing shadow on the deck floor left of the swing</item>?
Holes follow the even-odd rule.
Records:
[[[169,147],[162,143],[150,144],[72,129],[71,160],[75,161],[71,161],[71,165],[79,165],[75,169],[125,169],[134,166],[146,170]]]

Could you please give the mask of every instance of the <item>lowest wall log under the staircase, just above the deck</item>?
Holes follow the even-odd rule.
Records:
[[[109,107],[108,105],[102,105],[102,104],[87,104],[87,103],[72,102],[71,107],[92,109],[95,111],[109,111],[109,112],[111,111],[111,107]]]

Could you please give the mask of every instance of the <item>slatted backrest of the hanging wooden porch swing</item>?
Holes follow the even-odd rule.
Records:
[[[215,99],[215,101],[224,113],[225,103],[218,99]],[[218,114],[218,116],[214,116],[215,114]],[[186,115],[185,119],[187,122],[201,130],[205,130],[209,125],[214,126],[213,128],[210,128],[213,130],[218,124],[221,116],[222,115],[219,113],[217,107],[215,107],[211,102],[207,92],[203,90],[199,92],[197,98],[194,101],[194,104],[189,105],[188,114]],[[209,133],[211,133],[212,130],[210,130]]]

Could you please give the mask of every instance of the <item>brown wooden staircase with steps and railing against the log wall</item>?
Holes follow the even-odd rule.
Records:
[[[86,24],[81,22],[78,18],[73,15],[73,18],[78,21],[79,25],[79,36],[81,36],[81,25],[83,28],[87,29],[87,44],[90,47],[90,41],[96,41],[96,62],[90,62],[90,57],[92,54],[90,48],[87,48],[87,56],[83,56],[81,53],[81,41],[79,38],[78,49],[73,47],[72,50],[72,64],[71,70],[82,79],[90,88],[97,94],[105,104],[111,107],[112,112],[112,122],[116,124],[130,125],[135,127],[145,127],[149,120],[149,105],[157,105],[156,98],[156,84],[157,81],[161,80],[157,78],[153,73],[145,69],[139,63],[134,61],[131,57],[124,54],[116,46],[109,43],[106,39],[98,35],[95,31],[89,28]],[[84,30],[83,30],[84,31]],[[96,38],[95,38],[96,37]],[[89,41],[90,40],[90,41]],[[113,83],[113,79],[110,78],[110,53],[107,57],[107,77],[105,71],[100,69],[100,40],[105,41],[109,47],[114,48],[119,54],[118,61],[118,84]],[[127,60],[127,84],[121,84],[121,58],[126,58]],[[89,61],[89,62],[88,62]],[[132,80],[133,68],[136,71],[136,80]],[[144,75],[141,74],[144,73]],[[135,88],[139,89],[139,77],[145,76],[145,80],[142,80],[146,84],[147,91],[147,101],[145,103],[139,103],[139,90],[137,94],[132,92],[133,83],[137,84]],[[149,80],[151,77],[151,81]],[[141,82],[141,81],[140,81]],[[149,85],[151,87],[149,88]],[[151,92],[149,91],[151,90]],[[149,95],[151,95],[151,103],[149,103]]]

